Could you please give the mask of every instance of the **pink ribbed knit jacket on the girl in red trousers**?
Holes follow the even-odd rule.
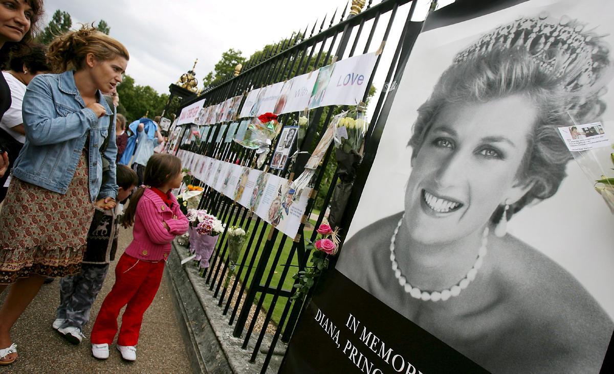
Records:
[[[177,219],[173,219],[173,216]],[[170,228],[167,230],[163,222]],[[188,219],[179,208],[176,197],[171,194],[171,208],[164,204],[160,196],[147,188],[134,217],[134,239],[126,248],[126,254],[142,260],[158,261],[166,259],[171,253],[171,241],[188,230]]]

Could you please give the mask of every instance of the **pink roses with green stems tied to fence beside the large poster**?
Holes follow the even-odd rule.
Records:
[[[328,256],[337,254],[339,246],[338,231],[333,230],[328,223],[322,223],[317,227],[317,234],[320,239],[314,243],[307,240],[308,245],[305,246],[306,250],[315,250],[311,255],[311,267],[293,275],[293,278],[297,280],[293,286],[297,289],[292,295],[293,300],[306,296],[309,289],[316,283],[317,278],[328,268]]]

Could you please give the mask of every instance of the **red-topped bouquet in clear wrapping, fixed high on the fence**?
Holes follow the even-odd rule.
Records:
[[[265,162],[266,155],[269,153],[271,144],[273,144],[273,139],[279,135],[281,128],[282,125],[277,121],[276,114],[264,113],[249,123],[244,140],[238,143],[243,145],[243,147],[257,150],[257,165],[261,167]]]

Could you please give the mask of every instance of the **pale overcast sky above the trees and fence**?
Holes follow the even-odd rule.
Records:
[[[200,87],[228,48],[247,57],[345,5],[346,0],[45,0],[41,23],[46,25],[57,9],[70,13],[74,27],[107,21],[110,35],[130,52],[127,74],[139,85],[168,93],[196,58]]]

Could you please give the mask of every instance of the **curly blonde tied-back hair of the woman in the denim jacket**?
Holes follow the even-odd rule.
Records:
[[[54,73],[70,69],[80,70],[85,56],[93,53],[99,61],[107,61],[117,56],[130,59],[128,50],[120,42],[89,25],[79,30],[62,34],[49,45],[47,59]]]

